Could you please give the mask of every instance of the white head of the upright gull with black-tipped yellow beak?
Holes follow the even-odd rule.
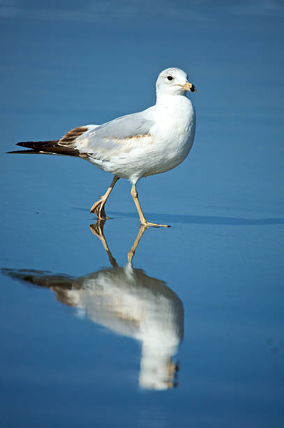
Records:
[[[195,86],[188,82],[188,76],[184,70],[165,69],[158,75],[156,83],[158,95],[184,95],[186,91],[197,92]]]

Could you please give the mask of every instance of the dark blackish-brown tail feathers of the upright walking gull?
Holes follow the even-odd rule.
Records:
[[[45,155],[68,155],[68,156],[80,156],[86,157],[84,153],[80,153],[72,146],[59,145],[59,140],[53,141],[21,141],[17,143],[21,147],[29,148],[31,150],[13,150],[7,153],[21,153],[38,155],[43,153]]]

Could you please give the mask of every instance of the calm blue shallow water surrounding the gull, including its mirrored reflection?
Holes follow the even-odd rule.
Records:
[[[1,426],[283,427],[282,3],[116,4],[0,7]],[[167,66],[195,143],[137,187],[170,229],[126,180],[96,224],[87,162],[4,154],[146,108]]]

